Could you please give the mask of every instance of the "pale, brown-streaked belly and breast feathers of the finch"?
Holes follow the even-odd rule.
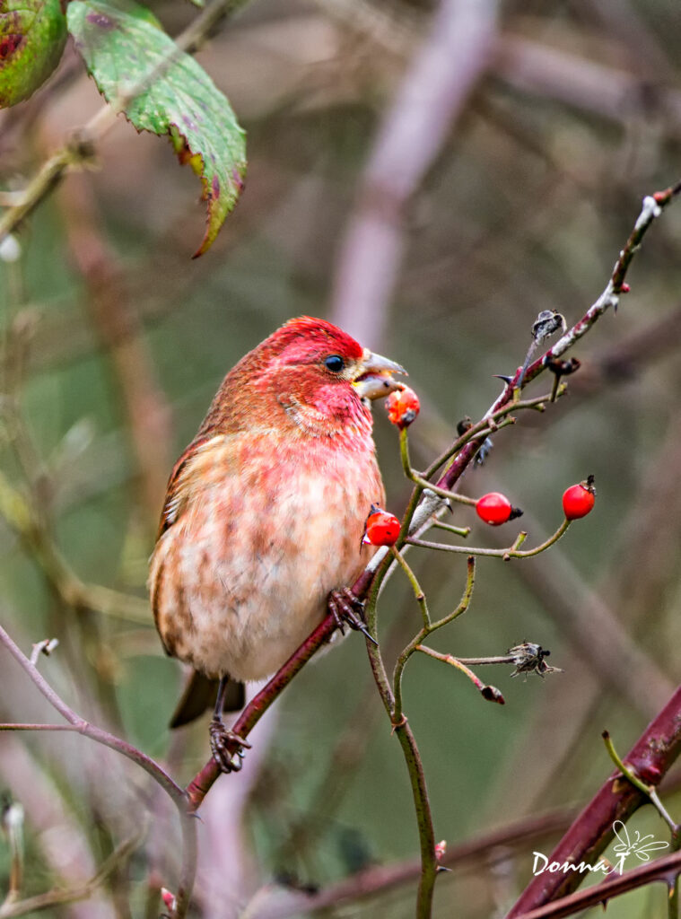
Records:
[[[341,483],[337,471],[301,470],[275,494],[207,488],[153,555],[153,606],[167,651],[238,680],[284,664],[322,620],[329,592],[352,584],[373,553],[360,541],[383,488],[373,457],[363,471],[346,472]]]

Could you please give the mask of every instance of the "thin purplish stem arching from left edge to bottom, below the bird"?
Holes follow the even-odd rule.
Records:
[[[182,833],[182,865],[177,885],[176,910],[174,915],[176,919],[182,919],[187,913],[197,867],[196,822],[192,820],[190,814],[187,813],[187,797],[185,792],[176,785],[176,782],[167,775],[161,766],[155,763],[149,756],[143,754],[142,751],[132,746],[131,743],[121,740],[108,731],[103,731],[101,728],[90,724],[77,715],[74,710],[57,695],[50,684],[40,674],[38,668],[34,664],[31,664],[28,657],[21,652],[17,644],[12,641],[2,626],[0,626],[0,644],[2,644],[6,648],[6,651],[14,657],[17,664],[22,667],[29,679],[38,687],[40,693],[47,699],[52,708],[56,709],[62,715],[62,718],[68,722],[66,725],[56,726],[44,724],[1,724],[0,731],[51,731],[56,728],[56,730],[72,730],[83,734],[90,740],[108,746],[109,749],[115,750],[117,753],[126,756],[132,763],[140,766],[147,775],[153,778],[154,782],[156,782],[161,789],[164,789],[165,794],[172,800],[179,817]],[[114,867],[115,863],[108,868],[108,870]]]

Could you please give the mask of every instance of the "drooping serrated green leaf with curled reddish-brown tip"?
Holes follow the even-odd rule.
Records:
[[[208,201],[206,234],[195,257],[202,255],[244,187],[245,132],[232,107],[144,7],[72,0],[67,17],[99,92],[113,105],[122,102],[137,130],[169,135],[180,163],[200,176]],[[132,92],[138,95],[124,98]]]

